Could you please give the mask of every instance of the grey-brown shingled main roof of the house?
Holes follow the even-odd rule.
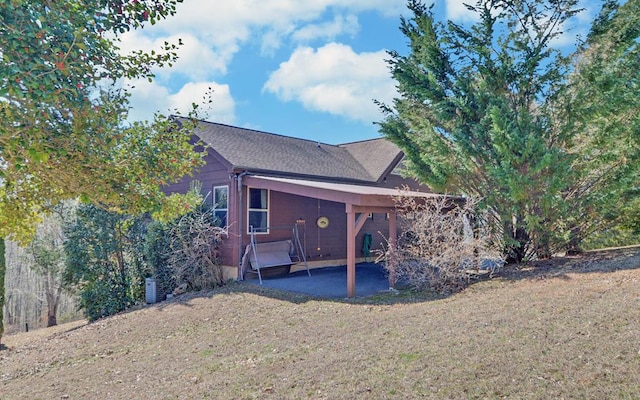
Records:
[[[330,145],[206,121],[194,133],[234,169],[279,176],[379,182],[403,156],[382,138]]]

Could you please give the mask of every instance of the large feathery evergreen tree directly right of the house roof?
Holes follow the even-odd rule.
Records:
[[[576,4],[480,0],[468,6],[478,22],[465,27],[436,21],[412,0],[413,17],[401,21],[410,53],[390,52],[400,98],[381,105],[381,132],[405,151],[410,174],[482,199],[510,262],[579,240],[578,215],[589,206],[602,211],[594,200],[606,186],[588,198],[574,191],[603,164],[583,163],[576,135],[591,135],[575,128],[588,121],[569,108],[570,59],[553,48]]]

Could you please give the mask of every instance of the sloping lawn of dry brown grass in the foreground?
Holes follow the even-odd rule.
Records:
[[[640,398],[639,267],[591,253],[430,300],[234,284],[3,338],[0,397]]]

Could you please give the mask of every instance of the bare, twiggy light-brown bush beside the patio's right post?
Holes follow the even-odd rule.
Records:
[[[481,229],[475,201],[421,200],[396,198],[401,234],[384,254],[389,274],[418,290],[451,293],[466,287],[470,274],[502,266],[501,252]]]

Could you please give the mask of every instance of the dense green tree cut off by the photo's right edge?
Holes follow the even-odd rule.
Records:
[[[575,133],[579,172],[566,191],[574,206],[570,246],[592,232],[640,232],[640,1],[606,1],[556,107],[557,124]],[[615,244],[615,242],[614,242]]]

